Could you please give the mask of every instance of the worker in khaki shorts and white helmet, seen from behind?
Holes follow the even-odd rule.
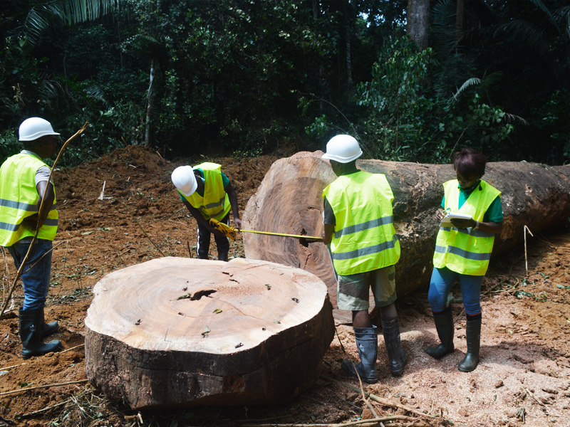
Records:
[[[323,243],[330,243],[338,280],[337,305],[351,310],[356,347],[361,362],[343,360],[341,367],[368,384],[378,381],[378,332],[368,313],[369,290],[380,308],[384,343],[393,375],[402,374],[407,361],[400,347],[400,325],[395,308],[395,263],[400,243],[393,226],[394,196],[383,174],[356,169],[362,150],[350,135],[337,135],[326,144],[323,159],[338,178],[323,191]],[[358,374],[358,375],[357,375]]]

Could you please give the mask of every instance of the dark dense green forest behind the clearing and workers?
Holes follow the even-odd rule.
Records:
[[[338,133],[375,159],[570,161],[567,0],[4,0],[0,49],[1,161],[31,116],[89,122],[63,166]]]

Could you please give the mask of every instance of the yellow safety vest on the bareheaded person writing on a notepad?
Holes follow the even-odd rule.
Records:
[[[483,221],[483,216],[494,199],[501,192],[481,181],[480,186],[469,195],[463,206],[459,206],[459,183],[452,179],[443,184],[445,191],[445,209],[460,214],[469,214],[476,221]],[[437,232],[433,266],[447,267],[452,271],[468,275],[484,275],[489,267],[489,259],[493,250],[494,233],[466,228],[440,227]]]

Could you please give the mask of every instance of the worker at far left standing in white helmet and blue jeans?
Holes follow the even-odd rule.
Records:
[[[51,169],[42,160],[56,153],[58,135],[47,120],[40,117],[24,120],[19,128],[24,149],[6,159],[0,167],[0,245],[8,249],[16,268],[24,261],[39,227],[38,238],[21,274],[24,305],[19,311],[19,322],[24,359],[61,348],[57,339],[47,344],[42,342],[59,328],[57,322],[46,323],[43,315],[51,275],[51,248],[58,231],[58,211],[53,180],[48,182]]]

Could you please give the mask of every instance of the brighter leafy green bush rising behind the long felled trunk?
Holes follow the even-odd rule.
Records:
[[[372,157],[448,162],[460,145],[492,152],[512,132],[506,113],[482,102],[478,93],[471,92],[467,107],[457,102],[484,79],[468,79],[454,96],[437,96],[426,84],[437,67],[431,58],[430,48],[417,52],[410,43],[395,41],[373,66],[372,80],[358,86],[355,101],[366,107],[358,130]]]

